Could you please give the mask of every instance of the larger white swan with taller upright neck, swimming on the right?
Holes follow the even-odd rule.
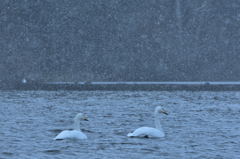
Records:
[[[127,136],[128,137],[164,137],[165,134],[162,130],[162,126],[160,124],[160,119],[159,119],[160,113],[168,115],[168,113],[161,106],[157,106],[155,108],[154,117],[155,117],[156,128],[140,127],[136,129],[133,133],[129,133]]]

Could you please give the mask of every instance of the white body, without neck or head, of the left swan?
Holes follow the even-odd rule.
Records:
[[[59,133],[54,140],[63,140],[63,139],[87,139],[87,136],[78,130],[64,130]]]

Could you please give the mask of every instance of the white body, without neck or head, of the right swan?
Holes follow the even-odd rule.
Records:
[[[128,137],[164,137],[164,133],[156,128],[140,127],[133,133],[129,133]]]

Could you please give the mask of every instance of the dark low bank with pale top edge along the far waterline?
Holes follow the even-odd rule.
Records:
[[[240,82],[15,82],[2,90],[240,91]]]

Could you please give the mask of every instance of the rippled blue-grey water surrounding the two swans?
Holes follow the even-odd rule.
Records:
[[[166,137],[127,138],[158,105]],[[88,140],[53,140],[78,112]],[[1,159],[236,159],[240,92],[0,91],[0,126]]]

